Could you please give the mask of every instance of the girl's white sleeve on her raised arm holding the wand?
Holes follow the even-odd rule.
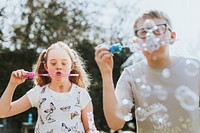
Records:
[[[32,107],[37,108],[39,105],[39,91],[40,90],[41,88],[39,86],[36,86],[26,93]]]

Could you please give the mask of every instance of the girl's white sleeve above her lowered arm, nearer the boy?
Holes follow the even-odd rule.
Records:
[[[91,97],[86,89],[83,88],[81,89],[80,101],[81,101],[81,110],[84,109],[91,101]]]

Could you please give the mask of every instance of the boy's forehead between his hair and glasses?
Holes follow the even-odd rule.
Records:
[[[144,22],[146,20],[148,19],[139,19],[135,25],[135,30],[144,28]],[[166,23],[166,20],[163,18],[149,18],[149,20],[152,20],[155,23],[155,25]]]

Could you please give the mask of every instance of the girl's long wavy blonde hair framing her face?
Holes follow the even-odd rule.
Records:
[[[72,61],[72,71],[70,74],[79,74],[79,76],[71,76],[69,77],[69,80],[82,87],[87,88],[90,85],[90,79],[89,75],[86,73],[85,70],[85,64],[82,60],[82,58],[78,55],[78,53],[71,49],[67,44],[64,42],[57,42],[52,44],[48,49],[43,50],[37,60],[37,63],[35,65],[35,74],[45,74],[48,73],[46,69],[44,68],[44,64],[47,62],[48,53],[51,49],[54,48],[63,48],[66,50],[66,52],[69,54],[71,61]],[[34,82],[36,85],[43,86],[51,82],[50,77],[44,77],[44,76],[38,76],[34,77]]]

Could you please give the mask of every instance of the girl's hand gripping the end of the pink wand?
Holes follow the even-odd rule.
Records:
[[[27,73],[28,71],[25,71],[24,69],[13,71],[9,83],[15,86],[22,84],[27,79]]]

